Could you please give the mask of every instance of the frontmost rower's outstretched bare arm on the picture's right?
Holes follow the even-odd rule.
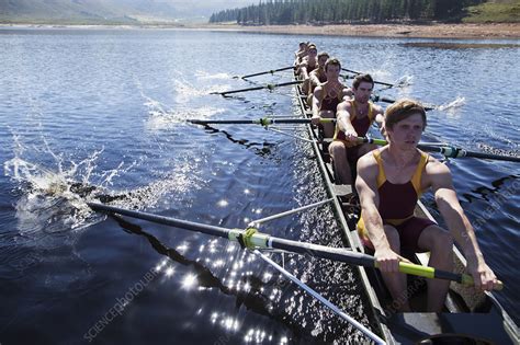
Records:
[[[475,231],[459,203],[450,169],[439,161],[427,164],[428,179],[436,197],[437,207],[455,241],[462,246],[468,262],[484,263]]]

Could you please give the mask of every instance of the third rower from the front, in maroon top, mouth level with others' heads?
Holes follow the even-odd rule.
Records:
[[[346,97],[352,95],[352,91],[339,81],[341,62],[336,58],[330,58],[325,62],[325,74],[327,81],[319,84],[313,94],[313,124],[318,125],[321,118],[335,118],[338,104]],[[332,138],[334,125],[323,124],[324,137]]]

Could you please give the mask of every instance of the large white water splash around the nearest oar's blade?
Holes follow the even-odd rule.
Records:
[[[192,172],[197,171],[201,159],[185,158],[176,162],[171,172],[148,185],[127,191],[110,191],[114,180],[124,176],[138,165],[120,162],[115,168],[100,171],[98,161],[103,149],[75,162],[65,154],[53,152],[48,143],[38,148],[41,160],[25,159],[31,147],[14,135],[14,158],[4,162],[4,174],[16,183],[21,197],[16,202],[16,228],[21,235],[41,237],[42,233],[70,232],[103,219],[92,212],[87,202],[105,202],[121,207],[143,209],[167,202],[182,199],[190,191],[197,189],[204,181]],[[44,154],[46,153],[46,157]],[[50,163],[48,162],[50,158]]]

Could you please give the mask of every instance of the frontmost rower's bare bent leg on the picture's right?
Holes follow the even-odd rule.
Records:
[[[420,249],[430,251],[430,267],[453,271],[453,238],[448,231],[438,226],[429,226],[422,230],[417,244]],[[428,279],[428,311],[442,311],[449,287],[450,280]]]

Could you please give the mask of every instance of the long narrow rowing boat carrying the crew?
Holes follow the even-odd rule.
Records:
[[[299,85],[295,85],[296,97],[302,116],[312,117],[312,111]],[[334,199],[332,208],[338,227],[351,250],[365,253],[361,244],[355,222],[359,217],[350,203],[344,203],[344,193],[352,193],[352,186],[336,185],[335,174],[325,141],[320,139],[317,127],[307,124],[307,131],[313,139],[320,173],[329,196]],[[338,193],[338,191],[341,191]],[[351,194],[353,195],[353,194]],[[434,221],[431,214],[418,203],[416,216]],[[403,253],[415,263],[427,265],[428,253]],[[454,269],[463,273],[466,261],[456,246],[453,246]],[[360,278],[371,302],[372,313],[376,319],[378,333],[387,344],[519,344],[518,326],[507,314],[493,292],[475,291],[472,287],[452,281],[443,312],[423,312],[426,310],[426,281],[423,278],[408,278],[406,296],[414,312],[396,312],[396,306],[387,291],[382,276],[375,268],[359,266]]]

